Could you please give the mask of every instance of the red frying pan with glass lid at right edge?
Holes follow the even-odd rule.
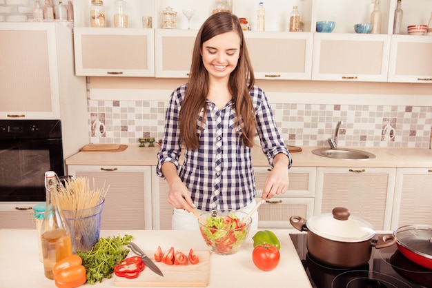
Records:
[[[432,269],[432,226],[405,225],[395,229],[397,249],[413,263]]]

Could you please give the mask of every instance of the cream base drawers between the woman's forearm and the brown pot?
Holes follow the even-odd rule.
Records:
[[[257,201],[262,194],[264,181],[270,169],[254,167],[257,185]],[[291,216],[311,218],[314,210],[315,167],[291,167],[288,172],[290,185],[285,194],[279,194],[258,208],[259,223],[262,229],[293,228],[289,223]]]

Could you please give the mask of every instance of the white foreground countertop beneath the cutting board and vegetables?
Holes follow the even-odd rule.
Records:
[[[288,229],[273,230],[281,242],[281,258],[279,265],[272,271],[261,271],[252,261],[253,232],[249,234],[246,243],[233,255],[221,256],[210,253],[209,288],[237,288],[237,287],[312,287]],[[133,231],[101,231],[101,236],[134,236],[133,242],[143,250],[153,251],[160,245],[175,247],[179,250],[209,249],[198,231],[172,230],[133,230]],[[55,287],[52,280],[43,275],[43,264],[39,262],[36,229],[0,230],[0,270],[2,274],[0,286],[3,288]],[[132,252],[130,252],[132,253]],[[81,287],[114,287],[114,275],[95,285]]]

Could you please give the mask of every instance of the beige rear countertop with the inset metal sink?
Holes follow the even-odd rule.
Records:
[[[376,155],[366,160],[344,160],[317,156],[312,150],[318,147],[302,147],[302,152],[291,153],[293,167],[426,167],[432,168],[432,150],[426,148],[370,148],[352,147]],[[349,148],[349,147],[348,147]],[[139,147],[129,144],[123,152],[78,152],[66,159],[66,165],[156,165],[159,145]],[[253,148],[253,164],[268,166],[261,147]]]

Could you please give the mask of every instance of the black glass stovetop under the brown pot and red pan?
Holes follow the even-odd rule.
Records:
[[[368,263],[347,269],[329,267],[313,258],[306,248],[307,234],[290,236],[314,288],[432,288],[432,270],[405,258],[396,245],[373,247]]]

